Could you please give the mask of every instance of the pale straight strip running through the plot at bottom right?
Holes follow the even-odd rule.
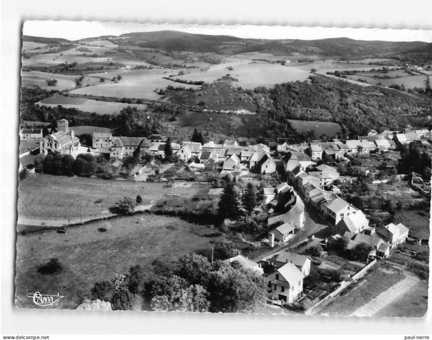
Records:
[[[420,279],[418,277],[409,275],[349,316],[374,316],[377,312],[406,293],[419,282]]]

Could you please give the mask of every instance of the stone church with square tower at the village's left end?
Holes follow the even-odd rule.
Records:
[[[46,135],[44,139],[39,142],[39,150],[41,154],[48,154],[49,152],[60,152],[60,154],[74,154],[79,148],[81,143],[75,137],[73,130],[69,131],[69,122],[65,119],[57,121],[57,130],[51,135]]]

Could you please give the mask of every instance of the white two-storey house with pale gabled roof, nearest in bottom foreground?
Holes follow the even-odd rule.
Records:
[[[304,277],[294,264],[288,262],[268,275],[266,280],[273,299],[292,303],[303,291]]]

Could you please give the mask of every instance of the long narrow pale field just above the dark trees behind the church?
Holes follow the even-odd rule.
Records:
[[[118,114],[125,107],[138,107],[145,109],[147,106],[143,104],[127,104],[117,103],[111,101],[95,101],[85,98],[65,97],[62,95],[55,95],[51,98],[44,99],[37,102],[40,106],[57,107],[61,105],[65,108],[76,108],[84,112],[95,112],[98,114]]]

